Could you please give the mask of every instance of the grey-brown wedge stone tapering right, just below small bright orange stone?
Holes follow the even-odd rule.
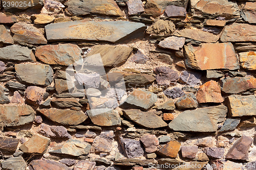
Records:
[[[124,116],[133,120],[136,124],[146,128],[161,128],[167,124],[158,116],[155,111],[143,112],[137,109],[123,110]]]

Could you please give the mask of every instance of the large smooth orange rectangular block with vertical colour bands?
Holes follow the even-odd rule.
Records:
[[[218,52],[218,53],[216,53]],[[203,43],[200,46],[186,45],[186,66],[206,69],[239,69],[236,52],[231,43]]]

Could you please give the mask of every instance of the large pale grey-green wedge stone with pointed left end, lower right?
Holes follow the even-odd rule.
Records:
[[[174,131],[216,132],[217,123],[224,121],[226,113],[224,105],[186,110],[169,123],[169,128]]]

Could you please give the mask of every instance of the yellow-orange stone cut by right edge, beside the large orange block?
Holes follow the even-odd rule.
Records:
[[[250,70],[256,70],[256,52],[239,53],[241,67]]]

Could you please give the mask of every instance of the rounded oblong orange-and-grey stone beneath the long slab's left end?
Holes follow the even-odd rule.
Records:
[[[69,66],[79,63],[81,53],[81,49],[75,44],[58,44],[37,47],[35,56],[46,64]]]

